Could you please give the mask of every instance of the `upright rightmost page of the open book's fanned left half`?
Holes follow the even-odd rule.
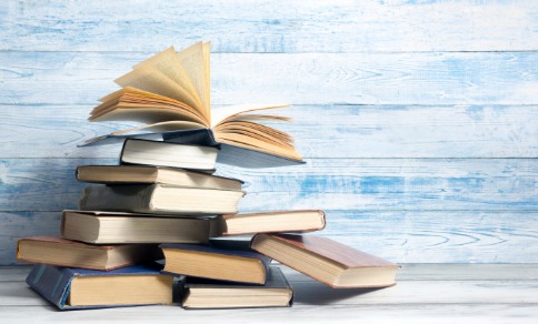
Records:
[[[198,42],[179,51],[177,57],[201,99],[203,115],[208,117],[209,120],[211,102],[209,101],[209,79],[206,79],[209,75],[209,70],[206,71],[207,67],[209,67],[209,54],[205,54],[203,48],[203,43]]]

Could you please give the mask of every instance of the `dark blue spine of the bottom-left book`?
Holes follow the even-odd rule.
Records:
[[[74,274],[64,267],[37,264],[28,274],[26,282],[47,301],[63,310],[73,276]]]

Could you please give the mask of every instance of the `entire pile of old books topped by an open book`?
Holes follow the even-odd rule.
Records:
[[[27,283],[61,310],[291,306],[276,262],[335,288],[393,285],[396,264],[305,234],[325,229],[321,210],[238,213],[243,182],[215,175],[217,162],[302,160],[289,135],[258,123],[285,118],[252,113],[280,105],[228,108],[210,121],[208,58],[207,43],[169,49],[117,80],[122,90],[90,119],[148,125],[88,142],[122,141],[119,165],[78,166],[88,185],[79,209],[62,212],[61,235],[19,240],[18,259],[36,263]]]

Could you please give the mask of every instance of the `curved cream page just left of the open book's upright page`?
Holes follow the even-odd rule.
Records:
[[[183,101],[192,108],[196,108],[202,114],[205,113],[202,101],[173,48],[169,48],[146,61],[138,63],[134,65],[133,70],[141,69],[143,71],[146,68],[158,70],[173,82],[178,83],[185,89],[185,93],[182,93],[182,95],[185,95]],[[205,115],[205,118],[209,120],[209,115]]]

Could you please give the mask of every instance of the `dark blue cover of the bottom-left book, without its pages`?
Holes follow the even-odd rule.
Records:
[[[46,300],[54,304],[60,310],[78,310],[78,308],[107,308],[119,306],[134,306],[137,304],[124,305],[78,305],[72,306],[68,303],[69,294],[71,293],[71,282],[76,277],[83,276],[123,276],[123,275],[165,275],[160,273],[160,266],[153,264],[132,265],[111,271],[96,271],[87,269],[61,267],[47,264],[37,264],[30,271],[26,282],[38,292]],[[171,300],[170,286],[170,300]],[[150,305],[150,304],[147,304]]]

